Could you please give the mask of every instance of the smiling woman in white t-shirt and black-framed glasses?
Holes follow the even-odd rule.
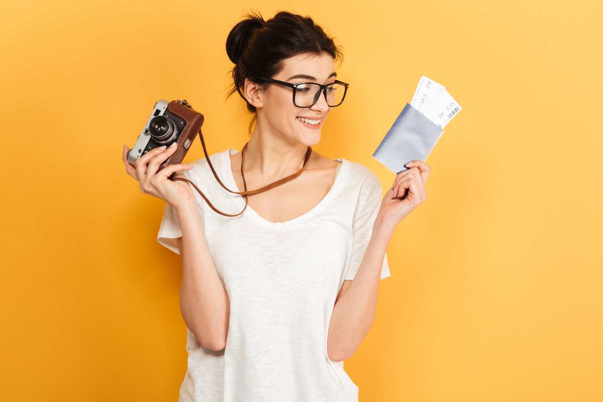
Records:
[[[210,155],[218,177],[239,192],[300,170],[344,87],[287,84],[341,82],[339,51],[311,18],[247,17],[226,42],[235,63],[229,95],[236,90],[257,123],[244,166],[234,148]],[[180,401],[357,401],[343,359],[371,326],[379,280],[390,276],[385,250],[426,198],[429,166],[409,164],[381,201],[368,168],[312,151],[298,177],[248,196],[244,213],[229,217],[191,184],[168,180],[177,172],[219,210],[241,212],[245,199],[219,186],[205,158],[157,173],[172,150],[153,149],[132,166],[124,147],[124,163],[143,193],[166,201],[157,240],[182,256],[188,370]]]

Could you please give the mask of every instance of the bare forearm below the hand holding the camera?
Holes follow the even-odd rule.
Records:
[[[177,209],[177,214],[182,228],[180,310],[203,347],[221,350],[228,332],[229,298],[207,246],[196,204]]]

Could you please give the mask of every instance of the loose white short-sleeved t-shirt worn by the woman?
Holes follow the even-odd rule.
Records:
[[[233,191],[230,155],[236,152],[210,155],[216,174]],[[267,221],[249,205],[239,216],[220,215],[191,186],[229,297],[230,321],[221,351],[201,347],[187,328],[188,369],[179,402],[358,401],[358,386],[343,361],[329,359],[327,335],[339,289],[354,278],[367,248],[382,187],[364,165],[337,160],[341,168],[327,195],[285,222]],[[205,158],[191,165],[184,174],[213,206],[241,212],[245,199],[220,186]],[[166,204],[157,241],[180,254],[180,236],[178,216]],[[387,254],[380,274],[386,277]]]

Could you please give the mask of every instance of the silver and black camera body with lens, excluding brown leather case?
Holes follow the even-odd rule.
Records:
[[[146,154],[151,149],[165,145],[170,146],[176,142],[186,126],[186,121],[170,113],[168,110],[168,101],[159,99],[153,106],[150,118],[147,124],[140,132],[136,143],[128,151],[128,162],[134,165],[139,157]]]

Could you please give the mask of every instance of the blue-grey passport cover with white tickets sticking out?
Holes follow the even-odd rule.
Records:
[[[408,169],[404,165],[411,160],[425,162],[442,133],[443,128],[407,103],[377,146],[373,157],[390,171],[399,174]]]

